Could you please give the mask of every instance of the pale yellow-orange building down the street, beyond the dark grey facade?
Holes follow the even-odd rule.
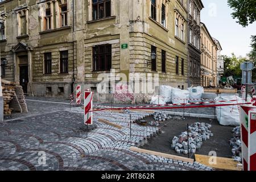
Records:
[[[217,51],[216,42],[201,23],[201,85],[204,87],[217,86]]]

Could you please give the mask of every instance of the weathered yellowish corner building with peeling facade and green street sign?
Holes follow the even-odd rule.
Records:
[[[158,73],[160,84],[187,88],[186,6],[185,0],[2,1],[3,76],[34,96],[68,97],[74,84],[95,91],[111,70],[127,78]]]

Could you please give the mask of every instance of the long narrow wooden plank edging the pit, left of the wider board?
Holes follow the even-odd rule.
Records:
[[[144,149],[138,148],[138,147],[130,147],[130,150],[134,151],[134,152],[144,153],[144,154],[161,156],[163,158],[181,160],[181,161],[188,162],[188,163],[194,163],[194,159],[184,158],[184,157],[177,156],[177,155],[165,154],[165,153],[161,153],[161,152],[155,152],[155,151],[151,151],[151,150],[144,150]]]

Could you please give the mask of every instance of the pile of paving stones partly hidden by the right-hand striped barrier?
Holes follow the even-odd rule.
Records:
[[[230,139],[232,146],[233,159],[242,162],[242,142],[241,142],[241,127],[237,126],[232,130],[233,138]]]

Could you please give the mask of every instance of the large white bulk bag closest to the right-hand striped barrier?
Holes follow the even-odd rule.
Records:
[[[216,105],[243,103],[242,99],[240,97],[237,97],[236,95],[221,96],[221,97],[217,97],[215,100],[216,100]],[[232,100],[236,100],[236,101],[232,101]],[[218,102],[218,101],[226,101],[226,102]],[[239,105],[216,107],[216,115],[220,125],[240,126]]]

